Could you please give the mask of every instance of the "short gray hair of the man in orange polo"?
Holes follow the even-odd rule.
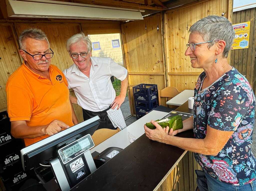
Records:
[[[25,49],[26,47],[25,40],[28,38],[36,39],[36,40],[46,40],[50,47],[47,35],[40,29],[31,28],[31,29],[25,29],[20,33],[20,36],[19,36],[20,49]]]

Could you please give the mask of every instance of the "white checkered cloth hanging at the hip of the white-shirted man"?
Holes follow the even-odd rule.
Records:
[[[117,110],[117,107],[115,109],[110,108],[109,110],[107,110],[107,113],[110,121],[112,122],[115,128],[118,127],[121,130],[126,128],[124,116],[120,108],[119,110]]]

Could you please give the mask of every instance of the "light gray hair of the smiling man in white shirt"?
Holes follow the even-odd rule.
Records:
[[[86,36],[83,32],[74,34],[67,40],[67,43],[66,43],[67,50],[68,51],[70,50],[71,44],[74,44],[77,42],[78,43],[84,42],[87,45],[88,53],[92,52],[92,42],[91,42],[90,38],[88,36]]]

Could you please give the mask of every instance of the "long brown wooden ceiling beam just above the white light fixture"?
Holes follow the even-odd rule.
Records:
[[[103,5],[103,6],[119,6],[119,7],[131,7],[136,9],[150,9],[150,10],[165,10],[166,8],[161,6],[151,6],[151,5],[144,5],[139,3],[131,3],[125,1],[115,1],[115,0],[79,0],[79,2],[85,4],[94,4],[94,5]]]

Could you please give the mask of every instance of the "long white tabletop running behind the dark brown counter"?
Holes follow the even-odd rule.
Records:
[[[124,149],[125,147],[130,145],[130,141],[128,139],[128,132],[130,132],[136,138],[139,138],[141,135],[145,133],[144,124],[146,122],[161,119],[167,114],[167,112],[153,110],[145,116],[143,116],[142,118],[135,121],[134,123],[132,123],[131,125],[127,126],[122,131],[119,131],[118,133],[114,134],[112,137],[108,138],[101,144],[92,148],[90,151],[91,153],[93,153],[94,151],[101,153],[103,150],[109,147],[119,147]]]

